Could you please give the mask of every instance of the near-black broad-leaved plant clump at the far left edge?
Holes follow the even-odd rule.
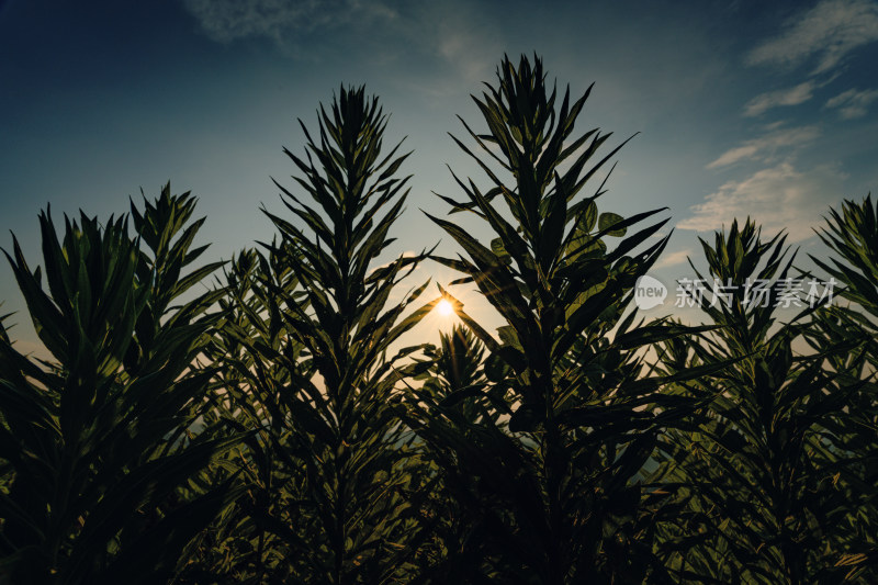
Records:
[[[0,571],[13,583],[167,580],[234,495],[188,483],[238,439],[195,426],[212,373],[193,361],[215,316],[205,297],[168,303],[212,267],[181,273],[198,256],[189,248],[200,224],[178,234],[194,201],[169,189],[135,215],[143,239],[125,217],[101,227],[82,214],[59,240],[41,214],[47,290],[14,238],[7,254],[53,357],[0,339],[0,460],[11,470]]]

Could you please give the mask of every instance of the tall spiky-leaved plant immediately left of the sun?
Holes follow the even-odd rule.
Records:
[[[412,439],[394,407],[396,383],[407,375],[395,365],[412,349],[387,351],[435,303],[403,315],[426,283],[391,301],[423,255],[374,266],[393,241],[389,232],[407,195],[408,178],[397,176],[407,155],[396,156],[398,145],[382,154],[385,126],[376,99],[342,88],[329,111],[320,108],[317,142],[302,124],[306,157],[285,150],[306,196],[278,187],[301,223],[269,214],[282,236],[270,251],[303,293],[270,290],[282,301],[272,317],[282,325],[271,326],[301,344],[306,371],[317,374],[291,369],[279,381],[291,414],[282,429],[292,434],[284,457],[302,473],[290,503],[295,521],[279,536],[302,565],[296,577],[306,582],[392,581],[419,538],[416,506],[407,502],[418,463],[407,457]]]

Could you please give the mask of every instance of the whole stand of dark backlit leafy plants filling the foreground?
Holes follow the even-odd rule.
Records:
[[[454,257],[376,260],[407,155],[363,88],[302,124],[275,237],[229,262],[170,185],[41,213],[40,266],[5,249],[30,315],[0,318],[0,583],[878,583],[876,205],[826,210],[817,274],[739,218],[701,240],[727,302],[645,318],[667,220],[599,211],[623,143],[575,126],[589,91],[502,61],[454,138],[482,172],[439,195],[489,237],[430,216]],[[791,277],[835,299],[781,318]],[[461,325],[399,349],[443,300]]]

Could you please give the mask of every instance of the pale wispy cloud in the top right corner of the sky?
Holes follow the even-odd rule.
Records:
[[[753,49],[747,63],[796,66],[815,57],[815,75],[834,69],[848,53],[876,41],[878,3],[824,0],[788,21],[779,36]]]

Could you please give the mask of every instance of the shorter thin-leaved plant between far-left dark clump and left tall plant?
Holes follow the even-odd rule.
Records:
[[[246,492],[205,530],[179,583],[279,583],[299,574],[304,559],[288,541],[297,526],[304,473],[295,451],[295,413],[288,395],[300,379],[309,379],[302,345],[281,317],[282,290],[290,299],[297,280],[277,254],[238,254],[225,269],[224,318],[207,356],[215,368],[211,424],[249,432],[238,451],[203,477],[207,484],[237,473]]]

